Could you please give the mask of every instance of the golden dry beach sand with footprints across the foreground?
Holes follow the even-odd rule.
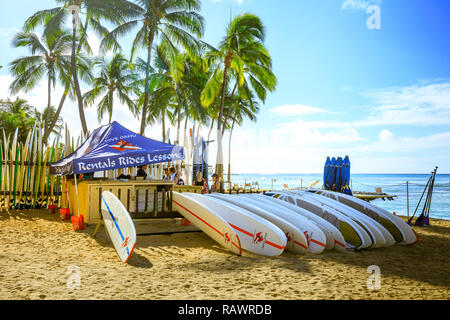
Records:
[[[46,211],[1,213],[0,299],[447,300],[450,221],[431,224],[415,228],[414,246],[276,258],[234,256],[203,233],[138,237],[123,264],[104,228],[94,239],[94,226],[75,232]],[[178,219],[136,227],[180,228]],[[367,288],[370,265],[381,269],[379,290]]]

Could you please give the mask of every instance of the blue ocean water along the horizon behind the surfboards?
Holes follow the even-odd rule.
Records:
[[[352,174],[351,184],[354,191],[375,192],[375,188],[381,187],[382,191],[396,195],[393,201],[377,199],[372,201],[390,212],[407,216],[407,192],[406,181],[409,188],[409,216],[414,214],[419,199],[425,189],[430,174]],[[227,180],[227,176],[225,176]],[[282,190],[284,184],[289,188],[309,187],[318,181],[316,187],[322,187],[322,174],[232,174],[231,183],[244,185],[245,183],[258,184],[263,189]],[[423,209],[426,194],[417,209],[418,217]],[[430,217],[450,220],[450,174],[437,174],[433,197],[431,200]]]

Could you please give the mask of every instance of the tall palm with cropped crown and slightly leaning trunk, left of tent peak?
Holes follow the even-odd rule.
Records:
[[[70,59],[71,65],[71,77],[73,77],[75,93],[78,101],[78,112],[80,114],[81,127],[84,134],[87,134],[86,117],[83,109],[83,99],[81,95],[80,82],[77,73],[77,43],[76,34],[77,28],[80,27],[82,36],[78,43],[78,47],[81,45],[87,45],[87,29],[91,27],[95,32],[104,36],[108,33],[108,29],[100,24],[100,19],[104,19],[114,24],[123,23],[124,18],[133,14],[136,10],[136,6],[127,0],[56,0],[61,6],[46,9],[36,12],[33,16],[27,19],[24,25],[26,31],[34,30],[39,25],[45,25],[44,35],[52,34],[56,30],[61,30],[65,19],[72,15],[72,54]],[[81,21],[78,21],[78,14],[83,12],[86,15],[84,25]],[[89,47],[87,46],[88,51]]]

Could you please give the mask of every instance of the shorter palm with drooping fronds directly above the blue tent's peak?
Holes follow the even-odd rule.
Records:
[[[130,98],[133,91],[132,83],[135,78],[131,73],[129,62],[120,53],[116,53],[111,60],[99,59],[99,76],[93,79],[93,89],[83,95],[86,105],[93,105],[102,97],[97,105],[98,121],[100,122],[105,113],[111,117],[113,113],[114,97],[117,95],[119,101],[128,106],[131,112],[135,110],[135,104]]]

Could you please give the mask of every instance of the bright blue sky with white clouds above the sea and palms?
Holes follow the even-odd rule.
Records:
[[[370,5],[380,9],[379,30],[367,27]],[[23,21],[54,6],[51,0],[2,3],[0,65],[27,54],[10,44]],[[203,0],[204,40],[217,45],[230,13],[241,12],[260,16],[266,26],[278,87],[258,122],[233,133],[235,172],[315,173],[327,155],[346,154],[352,172],[427,173],[435,165],[450,172],[449,1]],[[91,35],[91,41],[96,46],[99,39]],[[123,43],[129,54],[129,39]],[[10,81],[4,67],[1,97]],[[43,108],[44,87],[22,96]],[[116,109],[113,118],[138,131],[138,121]],[[63,117],[79,132],[75,103]],[[98,126],[93,108],[87,117],[92,129]],[[158,126],[147,134],[161,137]],[[227,163],[228,135],[224,146]]]

